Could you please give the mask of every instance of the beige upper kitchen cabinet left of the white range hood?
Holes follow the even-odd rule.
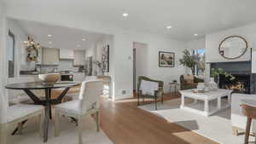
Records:
[[[59,65],[59,49],[44,48],[42,56],[43,65]]]

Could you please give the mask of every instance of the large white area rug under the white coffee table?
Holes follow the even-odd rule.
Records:
[[[190,101],[186,101],[190,103]],[[215,113],[210,117],[205,117],[194,112],[188,112],[179,108],[180,99],[164,101],[158,104],[158,111],[154,110],[154,103],[140,106],[145,111],[165,118],[170,123],[175,123],[185,129],[192,130],[199,135],[203,135],[212,141],[222,144],[243,144],[244,135],[232,135],[230,122],[230,108]],[[250,141],[254,141],[250,137]],[[254,143],[254,142],[253,142]]]

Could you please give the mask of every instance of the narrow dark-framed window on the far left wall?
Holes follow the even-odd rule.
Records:
[[[8,76],[9,78],[15,77],[15,35],[9,32],[8,37]]]

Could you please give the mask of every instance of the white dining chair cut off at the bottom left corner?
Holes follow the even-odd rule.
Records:
[[[38,105],[17,104],[7,108],[5,114],[7,121],[0,124],[0,143],[10,144],[10,130],[13,124],[18,124],[19,133],[22,130],[22,122],[26,119],[39,116],[39,134],[43,136],[44,107]]]

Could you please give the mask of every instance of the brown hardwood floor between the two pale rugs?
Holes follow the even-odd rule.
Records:
[[[177,97],[165,95],[165,101]],[[217,144],[137,108],[137,99],[113,102],[102,98],[101,120],[102,130],[114,144]]]

